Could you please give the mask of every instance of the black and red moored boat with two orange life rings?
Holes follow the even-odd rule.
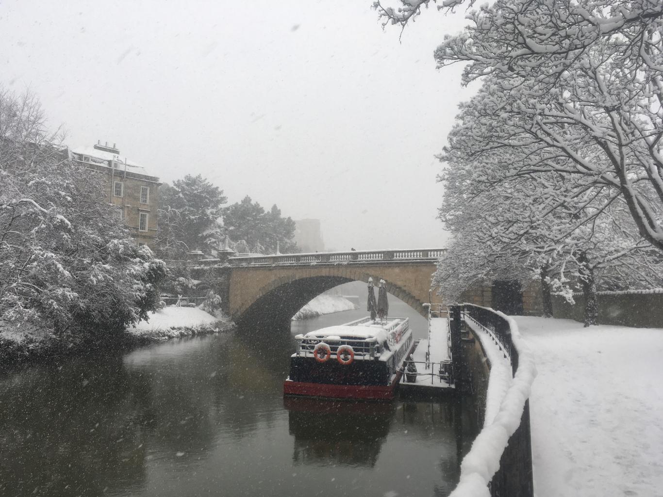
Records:
[[[364,317],[296,335],[286,395],[391,400],[414,340],[408,318]]]

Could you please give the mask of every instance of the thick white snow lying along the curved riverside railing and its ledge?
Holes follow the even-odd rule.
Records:
[[[460,480],[450,497],[488,497],[488,483],[499,469],[499,460],[509,443],[509,437],[520,425],[525,402],[530,396],[536,376],[534,359],[520,336],[516,321],[499,313],[509,321],[511,339],[518,351],[518,370],[511,378],[511,363],[487,331],[467,321],[491,361],[484,427],[472,443],[461,463]],[[499,406],[499,407],[498,407]]]

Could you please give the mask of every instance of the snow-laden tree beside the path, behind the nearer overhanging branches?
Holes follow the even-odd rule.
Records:
[[[440,217],[455,242],[436,282],[455,295],[474,278],[528,266],[541,273],[544,288],[572,300],[572,284],[591,281],[583,286],[589,321],[594,282],[658,285],[658,256],[638,233],[619,191],[595,178],[560,174],[567,157],[532,146],[528,130],[514,126],[515,117],[496,122],[492,116],[506,113],[509,98],[494,89],[489,81],[461,105],[450,145],[440,156],[448,164],[440,175],[446,187]],[[479,139],[490,136],[482,135],[487,127],[495,128],[493,136],[505,129],[511,136],[487,144]],[[524,165],[536,160],[537,168]],[[546,164],[554,169],[546,170]],[[459,261],[467,267],[459,268]],[[630,270],[623,269],[627,264]]]

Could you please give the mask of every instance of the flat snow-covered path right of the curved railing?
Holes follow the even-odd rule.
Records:
[[[538,369],[536,496],[663,496],[663,329],[514,319]]]

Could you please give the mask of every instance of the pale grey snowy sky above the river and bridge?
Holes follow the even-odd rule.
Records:
[[[326,249],[442,247],[434,155],[475,88],[433,51],[467,21],[432,7],[399,42],[371,4],[0,0],[0,85],[71,146],[320,219]]]

